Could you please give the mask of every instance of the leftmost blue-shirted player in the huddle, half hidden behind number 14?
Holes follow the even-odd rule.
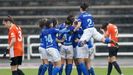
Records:
[[[38,75],[44,75],[47,67],[48,67],[48,57],[46,53],[46,44],[44,42],[44,36],[43,36],[43,31],[45,31],[45,24],[47,22],[47,19],[43,18],[39,20],[39,26],[41,28],[41,33],[40,33],[40,46],[39,46],[39,52],[41,54],[41,59],[42,59],[42,64],[40,65],[38,69]]]

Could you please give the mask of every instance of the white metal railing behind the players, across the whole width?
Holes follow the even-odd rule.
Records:
[[[119,35],[120,38],[133,38],[133,34],[120,34]],[[0,36],[0,39],[8,39],[7,36],[3,35]],[[39,35],[29,35],[27,37],[27,59],[30,60],[31,56],[40,56],[39,53],[33,53],[33,47],[38,47],[40,45],[40,43],[37,42],[31,42],[31,39],[39,39]],[[133,46],[133,42],[119,42],[119,45],[121,46]],[[0,47],[7,47],[8,44],[1,44],[0,43]],[[107,46],[106,44],[103,43],[95,43],[94,44],[94,50],[95,50],[95,55],[96,56],[107,56],[108,53],[107,52],[97,52],[97,47],[98,46]],[[119,52],[118,55],[133,55],[133,52]],[[2,56],[2,54],[0,54],[0,57]],[[8,55],[9,56],[9,55]]]

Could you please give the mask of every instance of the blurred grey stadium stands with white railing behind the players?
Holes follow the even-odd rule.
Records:
[[[40,29],[37,21],[43,17],[65,21],[70,14],[79,14],[79,5],[89,4],[90,12],[95,19],[99,31],[102,23],[112,20],[118,26],[120,50],[118,60],[120,65],[133,67],[133,0],[0,0],[0,67],[9,67],[9,60],[2,58],[7,47],[8,30],[2,25],[7,15],[13,16],[15,22],[22,27],[24,35],[24,65],[23,67],[38,67],[41,63],[38,54]],[[94,66],[107,65],[107,45],[96,42]],[[25,66],[26,65],[26,66]]]

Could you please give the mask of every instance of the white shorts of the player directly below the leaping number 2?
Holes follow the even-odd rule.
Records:
[[[76,47],[77,55],[76,58],[88,58],[88,45],[84,45],[83,47]]]

